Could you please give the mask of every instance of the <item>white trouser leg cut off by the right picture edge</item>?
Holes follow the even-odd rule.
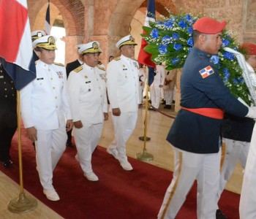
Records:
[[[255,126],[256,127],[256,126]],[[256,218],[256,128],[253,128],[248,158],[244,170],[239,215],[241,219]]]

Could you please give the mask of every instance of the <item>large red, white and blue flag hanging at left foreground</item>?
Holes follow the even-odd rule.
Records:
[[[0,62],[20,91],[36,78],[26,0],[0,1]]]

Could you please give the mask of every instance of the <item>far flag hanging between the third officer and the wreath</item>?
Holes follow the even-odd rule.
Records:
[[[144,26],[149,27],[149,21],[155,22],[156,21],[156,9],[155,9],[155,1],[154,0],[148,0],[148,8],[146,12],[146,19]],[[143,34],[146,34],[145,31],[143,31]],[[148,66],[148,85],[151,85],[151,83],[154,81],[154,69],[156,68],[156,64],[151,61],[151,54],[146,53],[143,49],[146,47],[147,42],[142,39],[141,41],[141,47],[140,52],[138,55],[138,62],[140,64],[144,64]]]

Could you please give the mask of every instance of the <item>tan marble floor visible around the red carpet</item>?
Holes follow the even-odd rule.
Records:
[[[144,136],[144,120],[146,110],[145,107],[140,107],[138,110],[137,126],[132,134],[132,137],[130,137],[129,141],[127,142],[127,154],[132,158],[136,158],[136,154],[143,153],[143,150],[146,149],[146,152],[150,153],[154,157],[154,160],[150,161],[149,163],[172,171],[173,150],[165,138],[170,126],[173,123],[173,118],[170,118],[167,115],[175,117],[176,112],[174,112],[173,107],[172,110],[165,110],[163,109],[162,105],[160,106],[160,110],[166,115],[155,111],[148,111],[148,126],[146,128],[146,136],[150,137],[151,140],[146,142],[146,145],[144,145],[144,142],[141,141],[139,137]],[[99,145],[102,147],[108,147],[112,139],[113,124],[110,117],[110,120],[105,122],[102,131],[102,139],[100,140]],[[240,164],[237,164],[230,181],[227,183],[226,189],[235,193],[240,193],[241,182],[242,168]],[[0,172],[0,191],[0,218],[61,218],[61,216],[56,214],[56,212],[53,212],[53,210],[50,210],[39,200],[37,200],[37,208],[31,212],[17,214],[7,210],[8,202],[16,197],[18,198],[20,193],[20,185],[12,181],[2,172]],[[25,193],[28,196],[30,195],[27,191],[25,191]]]

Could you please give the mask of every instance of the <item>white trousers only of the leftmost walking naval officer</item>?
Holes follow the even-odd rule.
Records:
[[[53,188],[53,170],[62,153],[66,149],[66,127],[56,130],[37,130],[36,160],[37,171],[42,187],[46,190]]]

